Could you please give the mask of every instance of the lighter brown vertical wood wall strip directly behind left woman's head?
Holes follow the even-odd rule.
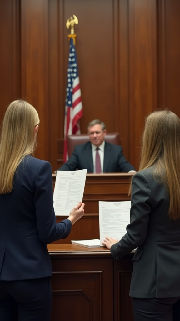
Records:
[[[36,157],[49,160],[48,0],[21,0],[21,96],[37,109]]]

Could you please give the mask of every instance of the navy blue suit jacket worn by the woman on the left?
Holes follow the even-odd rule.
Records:
[[[65,238],[70,230],[70,220],[56,224],[51,164],[26,156],[12,192],[0,195],[0,280],[51,275],[46,244]]]

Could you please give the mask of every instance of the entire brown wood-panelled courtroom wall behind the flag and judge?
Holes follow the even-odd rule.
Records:
[[[178,0],[1,0],[0,121],[9,102],[26,98],[40,117],[36,156],[53,171],[61,165],[72,14],[81,132],[102,119],[138,168],[144,117],[165,107],[180,117]]]

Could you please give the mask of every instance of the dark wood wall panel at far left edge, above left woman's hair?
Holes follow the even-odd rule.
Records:
[[[0,123],[20,97],[20,1],[0,1]]]

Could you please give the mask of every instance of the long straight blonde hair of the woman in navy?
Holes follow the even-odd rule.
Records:
[[[0,194],[12,191],[17,166],[26,155],[33,155],[38,124],[36,109],[25,100],[15,100],[7,108],[0,141]]]

